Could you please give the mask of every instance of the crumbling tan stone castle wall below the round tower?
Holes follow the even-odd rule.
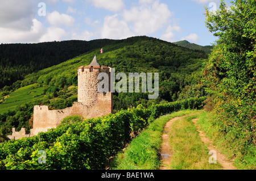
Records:
[[[33,129],[30,129],[31,136],[39,132],[46,132],[48,129],[56,128],[61,121],[72,115],[80,115],[83,119],[101,117],[113,113],[112,93],[98,93],[97,103],[94,106],[85,106],[80,102],[74,102],[72,107],[63,110],[49,110],[49,106],[35,106]]]

